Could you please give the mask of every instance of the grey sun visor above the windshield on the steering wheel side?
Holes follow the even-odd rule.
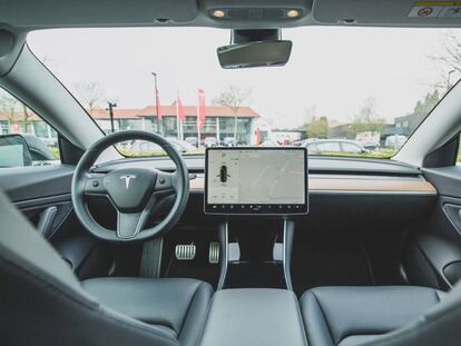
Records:
[[[0,22],[22,28],[178,23],[196,19],[195,0],[6,0]]]

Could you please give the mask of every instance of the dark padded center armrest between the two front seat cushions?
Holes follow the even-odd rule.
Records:
[[[307,345],[296,296],[272,288],[216,291],[200,345]]]

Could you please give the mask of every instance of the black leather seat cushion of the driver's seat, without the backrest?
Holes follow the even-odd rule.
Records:
[[[196,345],[205,324],[212,286],[194,279],[96,278],[82,283],[99,303]]]

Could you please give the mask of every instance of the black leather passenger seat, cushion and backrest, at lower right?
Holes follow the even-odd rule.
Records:
[[[416,286],[307,290],[301,298],[301,312],[308,345],[461,345],[460,301],[457,309],[450,310],[449,305],[439,305],[444,295]],[[453,295],[457,294],[453,291],[450,298]],[[458,318],[449,319],[450,314]]]

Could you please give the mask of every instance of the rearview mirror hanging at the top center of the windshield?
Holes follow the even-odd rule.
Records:
[[[217,49],[225,69],[284,66],[292,52],[292,41],[271,40],[223,46]]]

